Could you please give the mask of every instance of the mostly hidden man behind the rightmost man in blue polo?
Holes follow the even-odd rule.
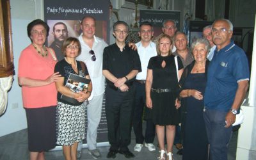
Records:
[[[211,30],[212,30],[212,26],[211,25],[206,26],[206,27],[203,28],[203,36],[204,36],[204,38],[206,38],[209,41],[209,43],[211,45],[211,50],[210,50],[210,52],[207,55],[207,59],[209,61],[212,60],[212,57],[213,57],[213,54],[214,54],[214,50],[216,49],[216,45],[214,45],[214,43],[212,42]]]

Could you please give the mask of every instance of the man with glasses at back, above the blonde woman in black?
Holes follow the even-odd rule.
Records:
[[[159,39],[159,37],[161,37],[163,34],[165,35],[169,35],[171,38],[174,37],[176,31],[177,31],[177,27],[176,27],[176,24],[175,24],[175,21],[172,20],[172,19],[167,19],[167,20],[164,20],[163,22],[163,27],[162,27],[162,31],[163,33],[161,33],[159,36],[157,36],[156,38],[154,38],[154,42],[156,43],[157,40]],[[175,52],[176,51],[176,47],[173,46],[172,48],[172,52]]]

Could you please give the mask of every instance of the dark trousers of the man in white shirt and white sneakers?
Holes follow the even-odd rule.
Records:
[[[153,143],[155,138],[155,125],[153,124],[151,119],[147,120],[147,126],[145,131],[145,138],[143,136],[143,129],[142,129],[142,115],[143,115],[143,109],[145,106],[145,84],[141,84],[138,82],[134,82],[135,86],[135,100],[134,100],[134,112],[133,112],[133,119],[132,119],[132,125],[134,134],[136,137],[136,143],[143,144],[143,141],[145,140],[145,143]]]

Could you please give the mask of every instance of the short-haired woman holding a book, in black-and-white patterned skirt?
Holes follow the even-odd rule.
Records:
[[[84,100],[90,97],[92,83],[83,84],[78,80],[83,77],[90,79],[84,63],[76,61],[76,57],[81,54],[79,40],[73,37],[67,38],[63,42],[61,51],[65,58],[59,61],[54,69],[61,74],[61,80],[55,83],[58,90],[57,144],[63,146],[65,159],[76,159],[77,144],[85,138],[86,102]],[[77,79],[71,78],[78,76],[80,77]]]

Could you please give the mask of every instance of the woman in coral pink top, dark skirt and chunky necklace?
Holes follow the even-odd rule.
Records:
[[[44,45],[49,26],[36,19],[28,24],[27,31],[31,44],[20,54],[18,81],[27,117],[30,159],[44,159],[44,152],[56,145],[54,81],[60,75],[54,73],[54,51]]]

